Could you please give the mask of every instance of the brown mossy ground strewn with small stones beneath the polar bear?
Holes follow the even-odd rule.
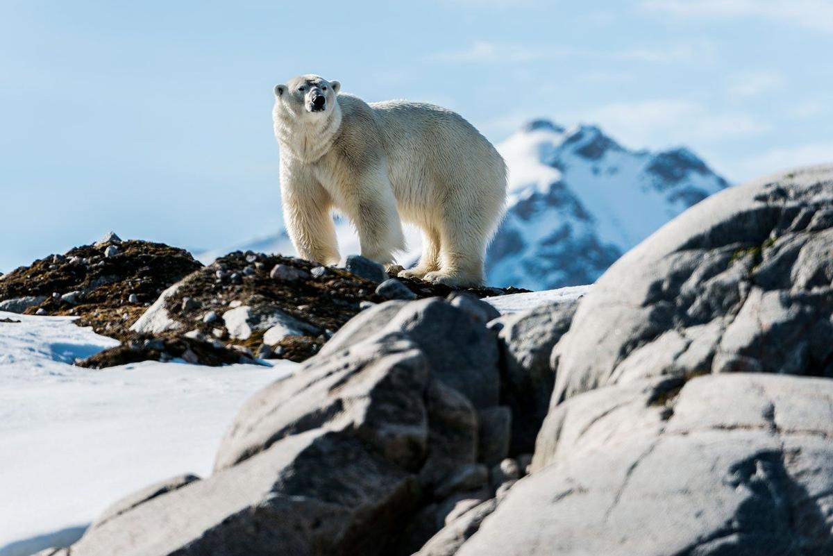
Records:
[[[117,254],[104,256],[107,246]],[[299,280],[270,277],[276,265],[292,266],[307,273]],[[362,301],[381,303],[377,284],[342,269],[327,267],[313,276],[318,265],[293,257],[236,251],[202,266],[182,249],[147,241],[82,246],[64,256],[49,256],[31,266],[12,271],[0,280],[0,300],[45,296],[27,314],[75,315],[77,325],[92,326],[122,345],[93,355],[77,364],[103,368],[142,360],[179,358],[202,365],[252,362],[259,355],[302,361],[315,355],[324,342],[362,310]],[[417,298],[446,296],[446,285],[401,279]],[[160,335],[139,335],[130,326],[156,301],[162,291],[179,282],[167,298],[165,309],[177,330]],[[516,293],[510,288],[467,288],[476,297]],[[76,303],[61,295],[78,292]],[[131,301],[131,295],[136,295]],[[227,310],[246,305],[254,317],[276,313],[291,316],[302,325],[303,335],[290,335],[262,350],[265,329],[252,327],[245,340],[232,339],[222,319]],[[216,320],[205,321],[213,311]]]

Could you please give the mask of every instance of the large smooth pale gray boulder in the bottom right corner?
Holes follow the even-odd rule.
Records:
[[[536,471],[454,554],[833,554],[831,438],[831,380],[659,377],[576,395],[541,429]]]

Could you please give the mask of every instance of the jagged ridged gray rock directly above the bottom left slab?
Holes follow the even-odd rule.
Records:
[[[291,434],[350,430],[387,459],[419,469],[426,457],[426,359],[401,337],[317,357],[243,405],[217,451],[226,469]]]

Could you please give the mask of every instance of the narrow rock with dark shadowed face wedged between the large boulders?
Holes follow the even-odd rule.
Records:
[[[577,305],[578,300],[566,300],[496,321],[502,325],[498,333],[503,363],[501,399],[512,410],[512,454],[535,448],[556,384],[552,349],[570,329]]]

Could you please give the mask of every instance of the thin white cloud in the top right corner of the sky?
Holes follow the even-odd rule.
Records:
[[[761,17],[833,32],[830,0],[642,0],[640,6],[682,17]]]

